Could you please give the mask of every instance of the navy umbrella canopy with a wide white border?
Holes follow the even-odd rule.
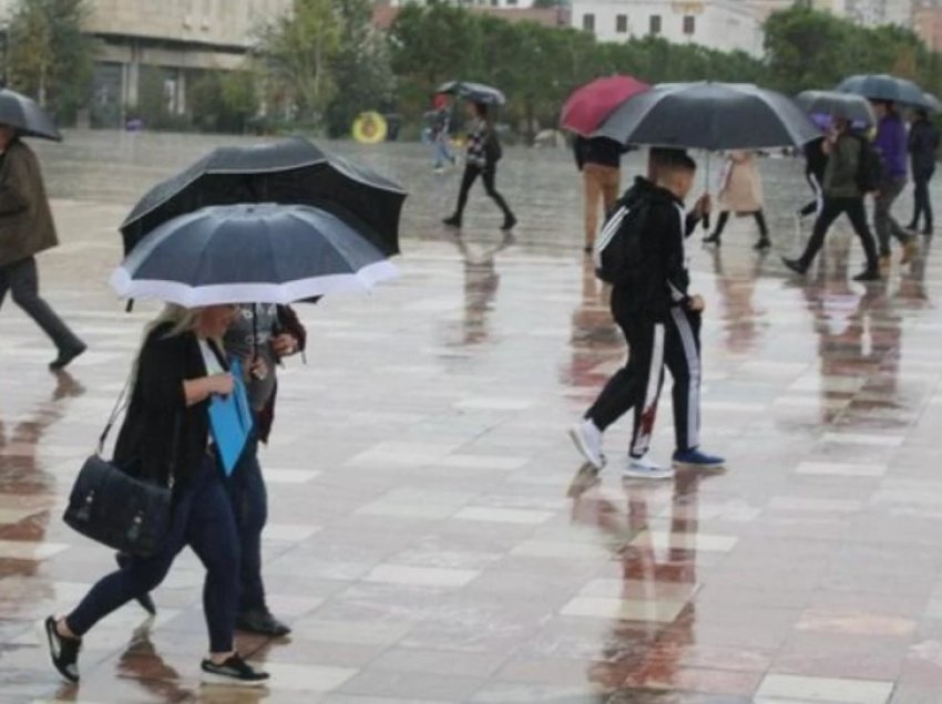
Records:
[[[186,308],[290,303],[370,289],[397,275],[369,240],[310,206],[211,206],[147,235],[111,277],[125,298]]]

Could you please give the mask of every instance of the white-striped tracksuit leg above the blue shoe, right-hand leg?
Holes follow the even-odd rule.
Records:
[[[664,363],[674,380],[677,451],[700,444],[700,314],[675,307],[666,325]]]

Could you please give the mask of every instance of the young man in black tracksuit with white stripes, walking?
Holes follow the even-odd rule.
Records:
[[[582,454],[596,468],[605,463],[602,433],[634,407],[635,420],[625,476],[666,479],[673,468],[656,465],[647,457],[657,401],[664,382],[664,366],[674,379],[674,425],[677,449],[675,467],[717,467],[720,457],[707,455],[699,446],[700,312],[704,301],[688,293],[684,240],[690,222],[684,211],[696,165],[689,156],[675,153],[662,157],[657,182],[637,179],[602,231],[605,246],[622,225],[627,210],[646,200],[647,215],[639,234],[645,266],[631,279],[612,288],[612,314],[628,342],[627,364],[605,385],[571,431]]]

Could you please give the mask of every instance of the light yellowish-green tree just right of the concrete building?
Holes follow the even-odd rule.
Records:
[[[321,124],[337,92],[331,65],[340,30],[332,0],[295,0],[289,14],[262,30],[264,89],[283,115]]]

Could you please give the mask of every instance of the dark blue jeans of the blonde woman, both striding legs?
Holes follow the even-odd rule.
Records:
[[[173,511],[161,552],[150,558],[131,558],[123,568],[99,580],[65,617],[75,635],[84,635],[112,611],[156,588],[180,551],[190,546],[206,567],[203,611],[209,629],[209,651],[233,650],[239,592],[239,543],[226,480],[214,459],[207,456],[180,488]]]

